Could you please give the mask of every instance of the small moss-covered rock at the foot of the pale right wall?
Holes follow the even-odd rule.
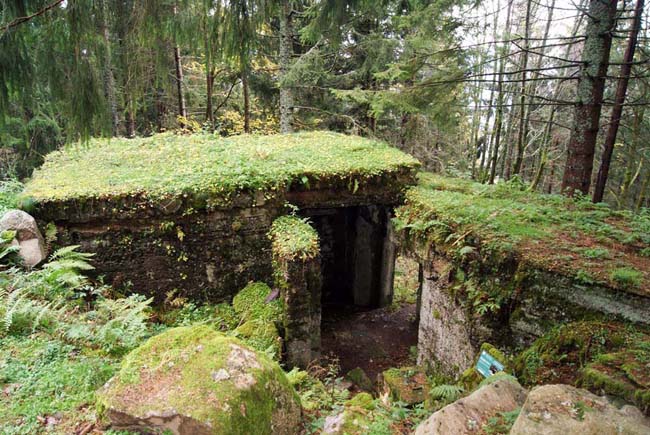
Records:
[[[422,403],[429,395],[429,382],[418,367],[392,368],[384,371],[379,383],[393,400],[408,405]]]

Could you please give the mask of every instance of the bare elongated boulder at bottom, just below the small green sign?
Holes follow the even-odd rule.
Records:
[[[516,410],[525,400],[526,390],[515,380],[499,379],[435,412],[415,434],[478,434],[490,418]]]

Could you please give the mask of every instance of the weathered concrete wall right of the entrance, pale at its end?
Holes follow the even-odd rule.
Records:
[[[471,366],[484,342],[514,350],[530,345],[554,326],[584,319],[650,325],[650,300],[643,296],[604,285],[585,286],[517,263],[500,271],[481,269],[472,260],[450,259],[436,252],[435,246],[408,238],[401,238],[400,244],[405,255],[422,267],[418,365],[455,376]],[[495,311],[478,313],[468,289],[483,297],[497,291],[506,297]]]

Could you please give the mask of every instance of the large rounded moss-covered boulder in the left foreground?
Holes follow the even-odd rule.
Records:
[[[98,407],[116,429],[176,435],[300,430],[298,396],[277,363],[205,325],[170,329],[131,352],[98,393]]]

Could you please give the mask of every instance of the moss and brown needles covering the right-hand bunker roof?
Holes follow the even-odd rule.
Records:
[[[518,258],[544,270],[650,296],[650,214],[429,173],[396,212],[398,229],[458,259]]]

